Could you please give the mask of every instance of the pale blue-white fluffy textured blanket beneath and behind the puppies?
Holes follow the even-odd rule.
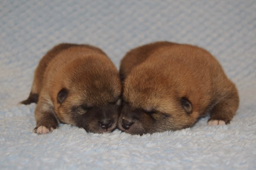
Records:
[[[255,0],[0,0],[0,169],[256,169]],[[40,58],[61,42],[103,49],[117,67],[154,41],[208,49],[236,83],[228,126],[132,136],[60,125],[32,132],[30,93]]]

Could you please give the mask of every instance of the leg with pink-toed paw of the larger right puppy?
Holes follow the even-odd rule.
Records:
[[[208,125],[228,125],[234,117],[239,105],[239,97],[236,89],[227,97],[221,99],[210,114]]]

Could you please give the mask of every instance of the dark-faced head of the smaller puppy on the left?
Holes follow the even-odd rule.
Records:
[[[63,123],[88,132],[116,128],[121,105],[121,81],[114,64],[97,58],[69,65],[55,95],[56,114]]]

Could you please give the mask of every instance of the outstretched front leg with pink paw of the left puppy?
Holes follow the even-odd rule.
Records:
[[[50,100],[40,99],[35,111],[37,134],[46,134],[58,128],[58,119],[54,113],[53,105]]]

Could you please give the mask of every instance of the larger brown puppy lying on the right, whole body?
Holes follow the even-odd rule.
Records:
[[[238,91],[206,50],[156,42],[132,49],[122,59],[123,107],[118,128],[145,134],[191,127],[205,113],[209,125],[230,123]]]

